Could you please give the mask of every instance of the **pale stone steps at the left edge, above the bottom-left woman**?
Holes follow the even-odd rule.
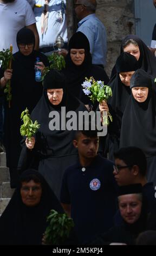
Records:
[[[5,153],[0,153],[0,215],[8,205],[14,189],[10,188],[9,168],[6,167]]]

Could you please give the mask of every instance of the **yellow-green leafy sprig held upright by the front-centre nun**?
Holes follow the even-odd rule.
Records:
[[[23,125],[21,125],[20,132],[22,136],[28,137],[30,140],[32,136],[36,133],[36,131],[39,129],[40,124],[37,123],[37,121],[32,123],[32,120],[30,119],[28,108],[26,108],[22,114],[21,119],[23,121]]]

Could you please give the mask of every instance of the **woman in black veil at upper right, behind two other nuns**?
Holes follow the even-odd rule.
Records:
[[[133,46],[133,48],[128,48],[129,45]],[[145,70],[147,74],[151,75],[153,78],[156,77],[156,58],[147,45],[145,45],[137,35],[130,34],[122,39],[121,53],[122,52],[128,52],[134,55],[138,60],[138,68]],[[114,74],[116,74],[115,66],[112,70],[111,77]]]

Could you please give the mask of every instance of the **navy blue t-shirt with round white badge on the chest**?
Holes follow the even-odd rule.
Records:
[[[80,243],[112,227],[116,211],[113,162],[98,155],[87,167],[77,162],[66,169],[61,203],[71,204],[71,216]]]

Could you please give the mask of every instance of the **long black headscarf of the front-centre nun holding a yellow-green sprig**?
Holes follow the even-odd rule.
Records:
[[[85,106],[73,95],[70,95],[64,86],[64,75],[56,70],[50,70],[44,79],[43,85],[47,89],[63,88],[63,97],[59,105],[55,106],[50,103],[47,96],[47,89],[44,89],[43,95],[32,111],[32,120],[37,120],[41,124],[40,129],[36,133],[36,143],[35,147],[38,147],[41,155],[46,157],[62,156],[69,154],[73,151],[73,132],[61,129],[61,107],[66,107],[67,111],[85,111],[87,110]],[[57,111],[60,118],[60,128],[54,131],[49,129],[50,117],[49,113],[51,111]],[[65,115],[66,115],[65,113]],[[68,118],[65,117],[65,122]],[[37,146],[38,145],[38,146]],[[46,150],[46,151],[45,151]],[[74,150],[76,151],[76,150]]]

